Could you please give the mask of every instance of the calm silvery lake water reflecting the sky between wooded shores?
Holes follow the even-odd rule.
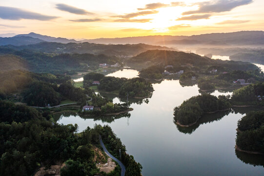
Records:
[[[118,74],[118,73],[116,73]],[[117,75],[116,75],[117,76]],[[136,76],[136,74],[132,75]],[[237,121],[245,110],[210,114],[191,128],[173,123],[173,108],[198,95],[199,88],[181,86],[179,80],[153,84],[148,103],[133,103],[130,117],[84,119],[78,115],[61,115],[58,123],[75,124],[79,131],[95,124],[108,124],[121,138],[127,153],[143,166],[143,176],[260,176],[264,174],[263,156],[235,152]],[[213,95],[231,94],[215,91]],[[112,96],[114,102],[120,98]],[[130,100],[129,100],[130,101]],[[131,100],[135,101],[135,100]],[[105,122],[108,121],[108,122]],[[241,158],[241,159],[239,159]]]

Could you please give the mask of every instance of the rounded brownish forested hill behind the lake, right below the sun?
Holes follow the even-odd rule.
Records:
[[[237,61],[223,61],[203,57],[194,53],[185,53],[166,50],[148,50],[128,60],[129,63],[149,63],[149,65],[162,64],[164,66],[197,66],[200,69],[204,66],[223,66],[230,70],[255,70],[257,66]]]

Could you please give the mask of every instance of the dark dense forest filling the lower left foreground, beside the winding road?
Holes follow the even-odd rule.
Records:
[[[118,156],[117,149],[122,146],[126,176],[140,176],[142,166],[125,153],[124,145],[109,126],[88,127],[76,133],[77,125],[57,124],[49,110],[35,110],[5,101],[0,101],[0,117],[1,176],[31,176],[41,167],[50,168],[58,163],[65,163],[61,176],[97,173],[105,176],[99,172],[95,160],[95,149],[101,150],[100,134],[112,154]],[[120,169],[115,169],[107,176],[119,175]]]

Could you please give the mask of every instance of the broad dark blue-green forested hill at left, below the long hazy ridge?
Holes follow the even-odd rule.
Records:
[[[87,71],[87,69],[98,68],[100,63],[122,64],[121,59],[103,54],[47,54],[31,50],[18,51],[2,47],[0,47],[0,59],[5,66],[10,67],[10,69],[7,70],[12,70],[12,68],[23,69],[24,66],[26,66],[26,69],[29,71],[54,74],[69,74],[69,72],[74,71]],[[16,61],[14,65],[13,61]],[[5,70],[5,68],[3,70]]]

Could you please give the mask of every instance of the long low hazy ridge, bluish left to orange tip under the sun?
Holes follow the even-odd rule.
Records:
[[[29,44],[22,46],[6,45],[2,48],[11,48],[16,50],[29,49],[41,51],[45,53],[90,53],[90,54],[105,54],[111,56],[135,56],[149,49],[175,50],[173,48],[155,46],[148,44],[91,44],[91,43],[51,43],[41,42],[38,44]]]

